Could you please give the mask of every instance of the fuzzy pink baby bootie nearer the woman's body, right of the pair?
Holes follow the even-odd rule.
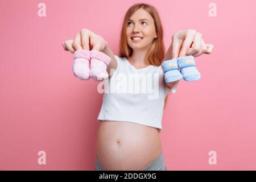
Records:
[[[111,58],[105,53],[92,50],[90,51],[90,77],[94,81],[102,81],[108,78],[106,69],[111,61]]]

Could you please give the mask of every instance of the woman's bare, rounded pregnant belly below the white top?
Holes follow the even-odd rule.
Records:
[[[159,130],[125,121],[101,121],[96,155],[106,170],[141,170],[162,151]]]

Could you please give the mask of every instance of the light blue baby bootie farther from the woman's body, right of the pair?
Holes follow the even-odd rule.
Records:
[[[178,57],[177,64],[185,81],[196,81],[200,79],[201,74],[195,67],[196,62],[193,56]]]

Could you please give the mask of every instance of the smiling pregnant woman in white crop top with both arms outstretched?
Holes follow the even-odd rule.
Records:
[[[80,49],[104,52],[112,59],[106,79],[110,82],[120,73],[159,75],[158,81],[154,80],[158,83],[154,99],[148,97],[152,95],[149,93],[104,93],[97,118],[100,128],[96,170],[167,170],[159,133],[168,95],[170,91],[176,92],[179,80],[165,82],[161,63],[176,57],[209,54],[213,45],[205,44],[195,30],[180,30],[172,35],[165,53],[158,12],[151,5],[139,3],[131,6],[125,15],[119,56],[113,54],[101,36],[88,29],[82,29],[74,40],[65,41],[63,47],[72,53]]]

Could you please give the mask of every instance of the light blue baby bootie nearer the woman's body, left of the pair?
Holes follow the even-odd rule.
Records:
[[[174,82],[183,78],[183,75],[179,72],[176,58],[163,61],[161,66],[164,72],[164,80],[166,82]]]

